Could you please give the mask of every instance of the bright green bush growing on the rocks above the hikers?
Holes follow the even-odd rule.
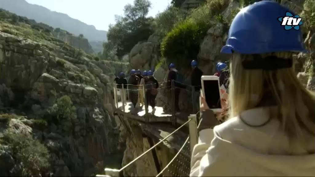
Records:
[[[161,43],[162,56],[170,63],[180,67],[190,67],[190,61],[197,58],[201,40],[206,36],[208,29],[216,21],[222,20],[221,12],[228,0],[208,0],[197,9],[193,9],[186,20],[178,23]],[[216,17],[216,18],[214,18]]]

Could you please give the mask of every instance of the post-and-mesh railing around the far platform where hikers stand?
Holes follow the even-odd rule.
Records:
[[[116,108],[143,117],[148,115],[170,117],[174,124],[177,122],[177,113],[189,115],[198,112],[199,92],[194,86],[176,81],[161,82],[158,86],[155,88],[155,84],[115,85]]]

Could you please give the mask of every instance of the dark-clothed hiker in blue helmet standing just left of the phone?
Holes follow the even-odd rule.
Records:
[[[195,88],[195,92],[193,93],[194,99],[193,112],[196,113],[199,110],[201,76],[203,75],[203,72],[198,68],[198,62],[196,60],[192,60],[191,66],[192,66],[191,85]]]

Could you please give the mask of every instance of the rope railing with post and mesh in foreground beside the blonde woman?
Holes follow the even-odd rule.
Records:
[[[96,175],[98,177],[119,177],[122,176],[123,170],[129,168],[134,163],[139,161],[140,158],[145,157],[149,153],[155,150],[155,148],[166,141],[170,136],[174,135],[176,132],[180,131],[186,124],[189,125],[189,136],[186,138],[186,141],[181,146],[180,150],[176,153],[176,155],[163,167],[161,171],[157,171],[158,176],[189,176],[190,174],[190,159],[191,153],[193,150],[193,146],[197,144],[197,115],[191,115],[188,118],[188,121],[177,128],[175,131],[170,133],[168,136],[163,138],[157,142],[150,149],[142,153],[140,156],[129,162],[127,165],[122,167],[121,169],[109,169],[105,168],[105,175]],[[165,155],[164,155],[165,156]],[[137,174],[141,176],[141,174]],[[153,175],[153,174],[151,174]]]

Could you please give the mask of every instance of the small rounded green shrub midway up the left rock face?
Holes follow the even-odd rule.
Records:
[[[59,122],[60,120],[70,120],[75,117],[76,108],[73,106],[69,96],[60,97],[50,112]]]

